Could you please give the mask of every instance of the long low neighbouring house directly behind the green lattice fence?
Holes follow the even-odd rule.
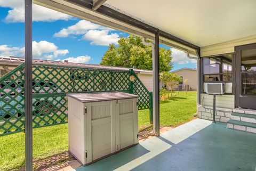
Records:
[[[100,64],[85,64],[85,63],[71,63],[68,61],[50,61],[50,60],[37,60],[37,63],[53,64],[60,66],[72,66],[72,67],[84,67],[84,68],[100,68],[100,69],[113,69],[113,70],[129,70],[129,68],[124,67],[111,67],[102,66]],[[0,56],[0,77],[4,76],[7,72],[13,70],[15,67],[19,66],[24,62],[24,58],[18,58],[13,56]],[[141,82],[145,85],[149,92],[153,91],[153,72],[151,70],[137,69],[133,68],[134,72],[138,75]],[[162,82],[159,87],[162,87]]]

